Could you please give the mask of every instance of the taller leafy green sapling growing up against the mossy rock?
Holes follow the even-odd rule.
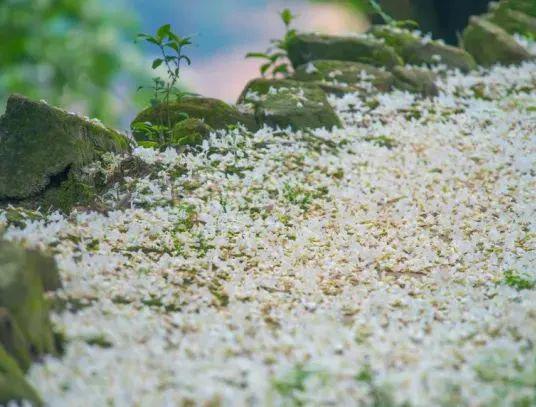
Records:
[[[163,109],[160,110],[160,123],[137,123],[133,126],[133,130],[144,134],[147,138],[147,141],[143,142],[142,145],[145,144],[147,147],[166,145],[169,142],[172,127],[170,103],[172,99],[181,100],[184,96],[189,95],[189,93],[182,91],[178,84],[182,67],[184,64],[190,65],[192,63],[184,53],[184,48],[191,45],[192,41],[190,37],[181,37],[174,33],[170,24],[161,26],[154,35],[138,34],[138,40],[158,48],[159,56],[152,61],[151,67],[153,70],[157,70],[164,66],[167,77],[165,79],[153,78],[153,84],[149,87],[152,92],[151,106],[163,105]],[[138,87],[138,90],[141,89],[147,89],[147,87]],[[188,115],[184,114],[184,119],[186,118]]]

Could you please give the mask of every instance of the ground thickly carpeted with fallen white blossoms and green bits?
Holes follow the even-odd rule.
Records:
[[[345,129],[138,148],[52,249],[51,406],[536,403],[536,64],[434,99],[332,98]],[[121,157],[92,171],[113,177]]]

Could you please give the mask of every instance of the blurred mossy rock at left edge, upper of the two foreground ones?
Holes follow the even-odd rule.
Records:
[[[44,296],[45,285],[56,286],[57,281],[53,271],[43,269],[43,259],[34,251],[0,241],[0,307],[16,322],[32,358],[57,353]],[[45,267],[51,264],[45,263]]]

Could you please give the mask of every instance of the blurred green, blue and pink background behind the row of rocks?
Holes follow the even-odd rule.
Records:
[[[418,20],[423,31],[456,42],[470,14],[487,0],[383,0],[396,18]],[[136,92],[154,75],[154,50],[134,39],[171,23],[193,37],[192,66],[182,85],[233,102],[284,28],[283,8],[298,15],[300,30],[361,32],[370,24],[366,0],[0,0],[0,111],[18,92],[99,117],[125,128],[147,101]]]

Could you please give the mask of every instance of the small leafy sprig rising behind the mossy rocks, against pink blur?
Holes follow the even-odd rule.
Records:
[[[288,46],[290,41],[296,36],[296,30],[292,28],[292,22],[296,19],[296,15],[286,8],[279,13],[281,20],[285,25],[285,35],[282,39],[274,39],[271,41],[272,46],[266,52],[249,52],[246,58],[260,58],[266,60],[261,65],[261,76],[271,74],[272,77],[282,75],[287,77],[290,74],[291,68],[288,62]]]

